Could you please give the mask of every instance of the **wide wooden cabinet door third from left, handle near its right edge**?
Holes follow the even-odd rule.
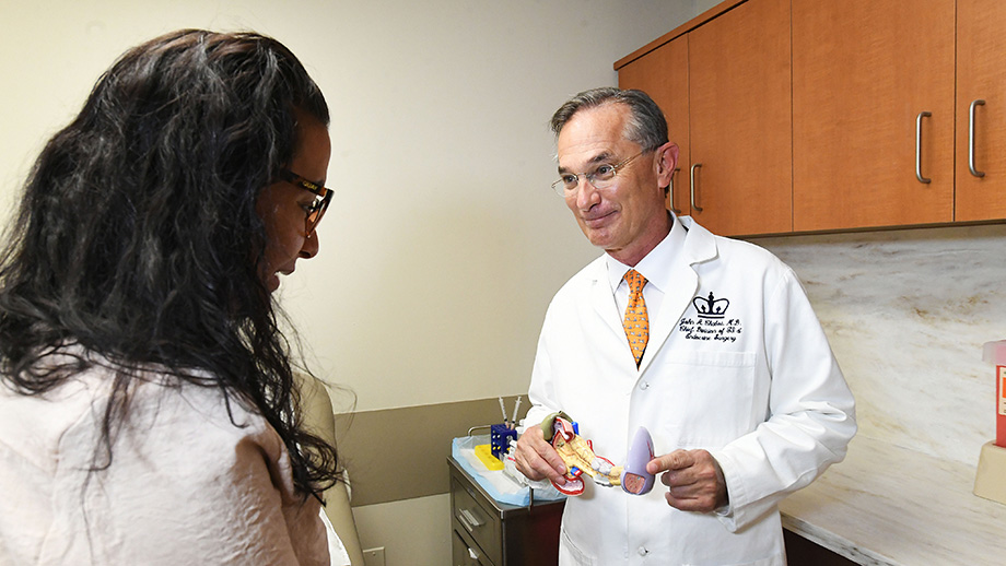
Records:
[[[794,229],[951,222],[955,0],[793,0],[792,26]]]

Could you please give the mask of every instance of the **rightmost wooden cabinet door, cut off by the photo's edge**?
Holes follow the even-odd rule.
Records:
[[[958,0],[957,25],[955,220],[1006,219],[1006,2]]]

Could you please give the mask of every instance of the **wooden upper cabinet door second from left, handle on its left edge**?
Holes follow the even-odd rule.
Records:
[[[689,32],[688,87],[692,216],[718,234],[792,231],[789,0]]]

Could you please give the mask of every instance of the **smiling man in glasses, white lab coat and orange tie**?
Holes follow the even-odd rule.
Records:
[[[776,504],[842,460],[854,401],[789,268],[665,209],[678,148],[640,91],[598,89],[552,117],[560,180],[584,235],[605,255],[555,294],[531,375],[527,423],[563,411],[615,463],[640,426],[656,487],[634,496],[586,482],[562,521],[561,565],[784,565]],[[757,202],[751,207],[757,213]],[[640,310],[623,279],[645,280]],[[630,302],[633,302],[630,305]],[[517,468],[562,483],[538,426]]]

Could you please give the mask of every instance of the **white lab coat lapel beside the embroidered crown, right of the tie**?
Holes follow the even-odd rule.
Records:
[[[656,316],[650,315],[650,343],[646,344],[646,353],[640,366],[641,374],[657,356],[699,291],[699,274],[694,266],[715,259],[718,253],[716,240],[709,231],[695,224],[690,216],[679,216],[678,220],[688,228],[688,233],[685,245],[675,253],[670,264],[672,283],[664,293],[660,311]]]

